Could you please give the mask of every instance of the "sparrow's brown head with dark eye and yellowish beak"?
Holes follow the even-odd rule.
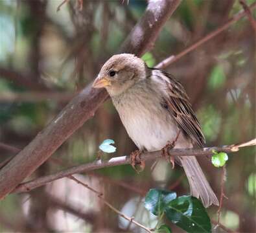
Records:
[[[105,87],[110,96],[116,96],[146,78],[146,70],[145,62],[134,54],[114,55],[100,69],[93,87]]]

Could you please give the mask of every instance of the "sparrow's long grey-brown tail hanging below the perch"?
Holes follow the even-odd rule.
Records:
[[[205,178],[204,172],[200,164],[194,156],[180,157],[181,164],[189,180],[191,186],[191,195],[198,198],[201,197],[202,203],[205,207],[212,204],[219,205],[218,199]]]

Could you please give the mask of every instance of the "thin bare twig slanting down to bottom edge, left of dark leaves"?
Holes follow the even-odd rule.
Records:
[[[88,184],[82,183],[82,181],[79,181],[78,179],[76,179],[75,177],[73,177],[73,175],[70,175],[68,177],[69,179],[76,181],[76,183],[81,184],[82,186],[84,186],[85,188],[88,188],[89,190],[91,190],[91,192],[94,192],[95,194],[97,194],[97,197],[99,197],[99,199],[108,207],[111,208],[111,210],[113,210],[114,212],[116,212],[119,216],[123,217],[124,219],[130,221],[131,223],[134,223],[135,225],[137,225],[140,228],[143,228],[144,230],[146,230],[146,232],[151,232],[150,228],[147,228],[143,225],[141,225],[140,223],[138,223],[137,221],[134,220],[134,217],[128,217],[125,214],[123,214],[122,212],[120,212],[119,210],[117,210],[117,208],[115,208],[113,205],[111,205],[108,201],[106,201],[106,199],[104,199],[103,194],[101,194],[100,192],[98,192],[97,190],[91,188]]]

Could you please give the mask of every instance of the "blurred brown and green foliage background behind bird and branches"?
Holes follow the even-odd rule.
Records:
[[[250,5],[255,0],[248,0]],[[79,10],[71,0],[0,1],[0,153],[15,155],[39,133],[100,67],[119,49],[142,16],[146,1],[86,1]],[[184,0],[143,59],[149,66],[178,54],[242,10],[239,1]],[[255,10],[252,11],[255,17]],[[185,86],[202,124],[207,146],[255,137],[256,32],[247,17],[167,67]],[[70,122],[72,124],[72,122]],[[67,140],[31,178],[94,161],[104,139],[117,151],[135,150],[108,100],[95,117]],[[11,146],[7,148],[6,145]],[[15,148],[14,148],[15,147]],[[221,223],[238,232],[256,232],[255,148],[229,155]],[[217,194],[221,170],[200,160]],[[156,221],[143,207],[149,188],[189,193],[183,170],[159,161],[137,174],[130,165],[80,175],[116,208],[148,227]],[[208,209],[216,220],[217,207]],[[173,226],[172,226],[173,227]],[[180,229],[173,227],[175,232]],[[140,232],[88,190],[61,179],[27,194],[8,195],[0,203],[1,232]]]

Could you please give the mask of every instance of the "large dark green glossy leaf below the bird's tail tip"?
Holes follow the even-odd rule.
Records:
[[[169,202],[166,217],[186,232],[211,232],[211,221],[202,203],[191,196],[181,196]]]

